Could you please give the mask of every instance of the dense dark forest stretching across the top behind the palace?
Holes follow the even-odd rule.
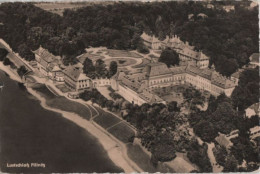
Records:
[[[89,46],[146,52],[140,39],[143,31],[160,39],[176,34],[203,50],[217,71],[230,76],[259,52],[258,8],[248,10],[245,2],[228,2],[235,5],[229,13],[218,8],[224,2],[212,2],[215,8],[208,9],[202,2],[171,1],[99,4],[67,9],[63,16],[32,3],[2,3],[0,37],[27,60],[33,60],[31,50],[42,45],[68,65]],[[207,17],[188,19],[189,14],[200,13]]]

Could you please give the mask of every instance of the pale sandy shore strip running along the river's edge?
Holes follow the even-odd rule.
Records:
[[[3,65],[0,62],[0,69],[6,72],[11,79],[22,82],[21,78],[13,72],[10,67]],[[103,146],[103,148],[107,151],[109,158],[120,168],[122,168],[125,173],[132,173],[132,172],[142,172],[142,170],[135,165],[130,159],[126,157],[126,149],[122,147],[120,142],[113,140],[108,133],[103,132],[99,129],[98,125],[95,123],[91,123],[88,120],[83,119],[79,115],[71,112],[62,111],[59,109],[54,109],[46,104],[45,98],[41,97],[39,94],[36,93],[32,88],[27,88],[28,92],[35,96],[41,103],[41,106],[49,111],[57,112],[62,114],[62,116],[71,122],[75,123],[76,125],[80,126],[81,128],[88,131],[91,135],[97,138],[98,142]],[[134,166],[134,167],[133,167]]]

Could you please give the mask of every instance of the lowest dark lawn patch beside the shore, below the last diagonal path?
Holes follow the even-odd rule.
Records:
[[[124,143],[128,143],[129,139],[135,136],[134,131],[125,123],[120,123],[108,130],[112,135]]]

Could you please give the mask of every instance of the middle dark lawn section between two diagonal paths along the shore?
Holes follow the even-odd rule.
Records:
[[[116,116],[103,111],[102,109],[96,108],[99,112],[99,116],[94,118],[94,121],[104,129],[119,123],[121,120]]]

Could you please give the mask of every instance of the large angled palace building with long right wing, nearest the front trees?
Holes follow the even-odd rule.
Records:
[[[111,79],[111,87],[131,103],[165,103],[153,93],[156,88],[190,84],[196,89],[205,90],[218,96],[230,96],[237,85],[214,69],[200,69],[188,64],[168,68],[164,63],[150,63],[135,73],[118,72]]]

